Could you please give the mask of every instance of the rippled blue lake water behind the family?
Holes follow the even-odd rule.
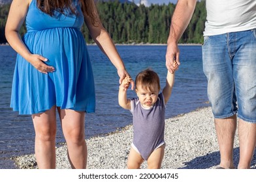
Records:
[[[166,45],[117,45],[131,77],[152,68],[159,74],[161,88],[165,86]],[[86,138],[104,135],[132,123],[129,110],[118,105],[118,74],[116,68],[96,45],[88,46],[96,89],[96,112],[86,115]],[[208,106],[206,78],[202,72],[200,45],[180,45],[182,64],[176,72],[172,96],[167,104],[166,118]],[[16,52],[10,46],[0,46],[0,168],[15,168],[10,157],[34,153],[34,129],[31,116],[21,116],[10,109],[12,73]],[[136,97],[128,90],[127,96]],[[57,121],[57,146],[65,142]]]

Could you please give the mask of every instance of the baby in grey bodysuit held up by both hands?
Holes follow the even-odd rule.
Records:
[[[178,64],[174,62],[174,66]],[[135,79],[138,98],[127,99],[127,88],[132,82],[131,77],[125,77],[118,95],[120,106],[133,114],[134,135],[127,168],[138,169],[144,161],[148,162],[148,168],[161,168],[165,153],[165,105],[174,85],[174,73],[167,73],[161,93],[157,73],[150,69],[138,73]]]

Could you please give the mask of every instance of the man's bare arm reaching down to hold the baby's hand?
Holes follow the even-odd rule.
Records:
[[[178,41],[187,28],[187,25],[189,25],[196,4],[197,0],[178,0],[174,14],[172,15],[170,33],[167,40],[167,54],[165,56],[167,69],[171,73],[178,69],[173,66],[174,60],[180,65]]]

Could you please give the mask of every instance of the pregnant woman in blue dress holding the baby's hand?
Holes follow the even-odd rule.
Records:
[[[24,21],[27,33],[21,38]],[[80,32],[84,22],[121,83],[129,74],[93,0],[14,0],[10,6],[5,34],[18,53],[10,107],[32,115],[39,168],[56,168],[56,111],[71,167],[86,168],[84,120],[86,113],[95,112],[95,88]]]

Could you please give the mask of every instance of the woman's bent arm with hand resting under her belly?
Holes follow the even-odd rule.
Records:
[[[33,55],[27,49],[22,41],[22,38],[20,37],[20,27],[24,23],[30,1],[31,0],[12,1],[7,18],[7,24],[5,26],[5,37],[7,38],[8,44],[10,44],[10,46],[12,46],[17,53],[24,57],[25,60],[35,66],[39,72],[54,72],[54,68],[52,66],[47,66],[42,62],[47,61],[47,59],[40,55]]]

